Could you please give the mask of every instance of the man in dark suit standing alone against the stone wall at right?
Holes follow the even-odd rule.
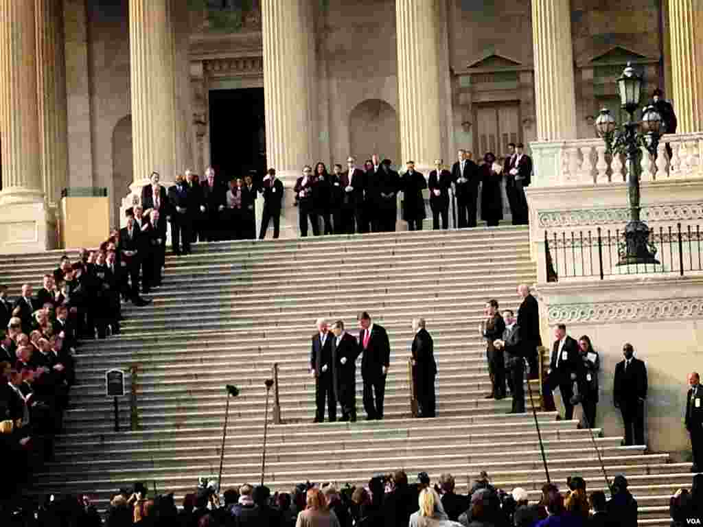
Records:
[[[624,344],[622,353],[625,359],[615,366],[613,401],[622,413],[625,445],[644,445],[647,368],[642,360],[634,357],[632,344]]]

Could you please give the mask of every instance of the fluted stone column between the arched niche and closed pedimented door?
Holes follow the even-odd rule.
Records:
[[[401,166],[408,160],[429,171],[441,156],[437,0],[396,0],[398,114]]]

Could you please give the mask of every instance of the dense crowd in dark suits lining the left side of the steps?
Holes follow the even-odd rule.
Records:
[[[36,292],[27,283],[10,299],[0,285],[0,440],[6,469],[16,475],[0,479],[3,496],[53,456],[79,342],[120,333],[122,301],[144,306],[140,280],[145,292],[160,284],[162,260],[152,258],[163,243],[157,252],[157,244],[141,241],[139,233],[148,233],[141,207],[129,214],[127,227],[113,230],[99,249],[82,249],[75,261],[61,256]]]

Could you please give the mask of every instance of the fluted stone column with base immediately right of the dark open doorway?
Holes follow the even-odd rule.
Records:
[[[309,8],[309,0],[262,0],[266,162],[276,169],[285,187],[281,238],[298,235],[292,190],[303,165],[314,162],[310,104],[314,49],[307,38]]]

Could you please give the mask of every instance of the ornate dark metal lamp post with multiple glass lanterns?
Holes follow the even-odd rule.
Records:
[[[641,147],[656,155],[659,137],[662,135],[662,116],[653,106],[642,110],[642,120],[634,121],[633,115],[640,105],[642,77],[628,63],[622,75],[617,79],[620,103],[628,114],[628,120],[617,129],[610,110],[600,110],[595,119],[595,130],[603,138],[607,152],[611,155],[624,154],[627,160],[628,205],[630,220],[625,226],[625,244],[619,249],[619,266],[633,263],[659,263],[654,257],[656,247],[650,243],[650,229],[640,220],[640,157]]]

